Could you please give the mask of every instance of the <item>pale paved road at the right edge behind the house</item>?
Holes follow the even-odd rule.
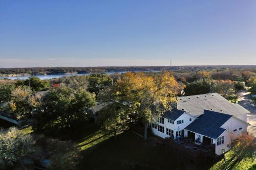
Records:
[[[251,112],[247,114],[247,122],[251,124],[251,126],[248,127],[248,132],[256,137],[256,106],[250,100],[250,94],[248,92],[244,91],[239,95],[239,104]]]

